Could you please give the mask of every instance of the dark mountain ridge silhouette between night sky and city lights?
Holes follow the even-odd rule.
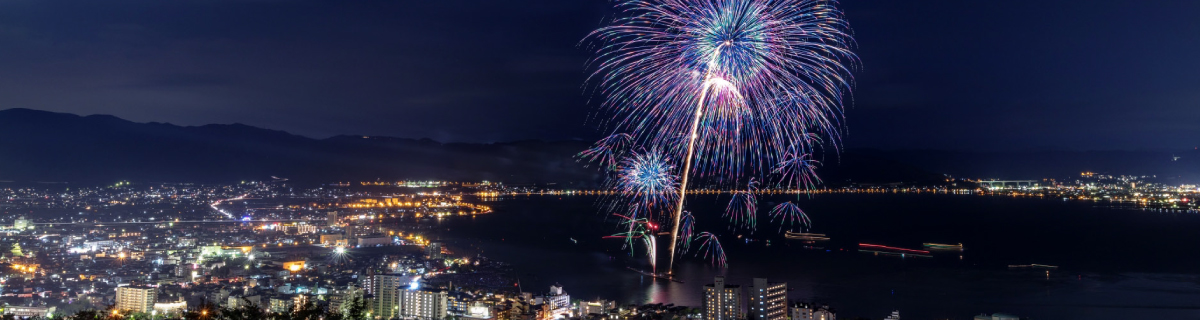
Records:
[[[337,135],[313,139],[241,123],[176,126],[110,115],[0,110],[0,180],[109,183],[120,180],[230,182],[492,180],[595,187],[604,180],[575,155],[592,141],[439,143]],[[944,175],[1067,177],[1080,171],[1195,179],[1200,150],[1025,151],[854,150],[818,156],[827,186],[940,183]]]

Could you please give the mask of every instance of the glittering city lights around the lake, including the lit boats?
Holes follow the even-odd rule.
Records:
[[[822,194],[946,194],[1086,201],[1129,211],[1196,213],[1195,185],[1152,176],[1082,173],[1068,179],[947,179],[943,186],[853,186]],[[112,316],[308,319],[338,313],[373,319],[836,319],[836,301],[794,301],[787,283],[716,277],[702,306],[625,304],[571,298],[570,288],[521,286],[502,260],[456,254],[431,221],[493,215],[503,198],[610,197],[605,191],[503,182],[331,182],[286,179],[232,185],[138,183],[4,188],[0,291],[4,313]],[[730,191],[696,189],[697,194]],[[797,191],[761,191],[791,194]],[[827,241],[805,234],[787,239]],[[908,249],[859,243],[875,255],[928,258],[964,246]],[[1050,270],[1051,265],[1009,265]],[[743,286],[744,285],[744,286]],[[199,315],[200,318],[206,318]],[[880,319],[899,318],[899,312]],[[844,318],[846,319],[846,318]],[[977,319],[1018,319],[1002,313]]]

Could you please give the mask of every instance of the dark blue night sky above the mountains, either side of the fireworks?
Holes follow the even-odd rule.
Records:
[[[1200,1],[845,0],[846,146],[1200,144]],[[0,0],[0,108],[313,138],[595,139],[607,0]]]

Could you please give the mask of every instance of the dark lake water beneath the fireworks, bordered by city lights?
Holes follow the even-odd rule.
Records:
[[[797,201],[823,249],[786,240],[766,215]],[[728,197],[689,198],[696,231],[718,234],[728,267],[688,253],[684,283],[655,280],[644,249],[630,255],[616,221],[590,197],[516,197],[496,212],[439,222],[449,247],[514,265],[526,291],[562,284],[574,298],[700,306],[701,286],[725,276],[786,282],[791,300],[817,301],[839,318],[970,319],[1012,313],[1031,319],[1200,319],[1200,216],[1108,207],[1104,203],[953,194],[822,194],[760,199],[757,230],[721,218]],[[739,239],[740,236],[740,239]],[[574,241],[572,241],[574,239]],[[746,241],[752,239],[754,241]],[[667,237],[660,237],[659,266]],[[767,244],[769,241],[769,246]],[[959,253],[900,258],[857,252],[860,242],[922,249],[962,243]],[[1010,270],[1044,264],[1050,270]]]

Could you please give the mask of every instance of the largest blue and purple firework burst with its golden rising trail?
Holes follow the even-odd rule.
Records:
[[[792,161],[788,150],[815,147],[812,134],[839,141],[847,64],[857,58],[836,0],[618,0],[616,7],[623,17],[588,36],[599,42],[588,80],[605,96],[611,126],[684,153],[679,194],[692,174],[762,176]]]

